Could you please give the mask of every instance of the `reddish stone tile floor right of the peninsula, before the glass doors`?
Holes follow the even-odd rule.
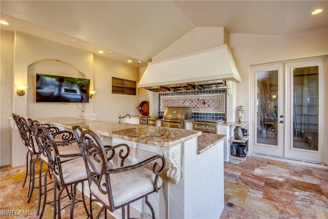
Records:
[[[247,157],[224,163],[220,218],[328,218],[328,170]]]

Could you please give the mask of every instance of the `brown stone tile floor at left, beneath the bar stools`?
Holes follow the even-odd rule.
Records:
[[[35,164],[36,170],[38,171],[39,162]],[[43,165],[44,170],[46,165]],[[11,219],[11,218],[39,218],[36,216],[37,201],[38,201],[38,189],[34,189],[31,202],[27,203],[28,198],[26,197],[27,185],[23,186],[23,180],[25,175],[25,166],[20,166],[12,168],[10,165],[3,166],[0,168],[0,218],[1,219]],[[38,175],[38,173],[37,173]],[[52,180],[48,177],[48,182]],[[42,182],[43,183],[43,182]],[[35,186],[38,186],[38,180],[35,182]],[[86,184],[86,186],[88,186]],[[48,185],[48,189],[53,188],[53,183]],[[57,192],[58,194],[58,192]],[[65,196],[63,192],[63,196]],[[77,198],[81,200],[81,192],[77,191]],[[53,201],[53,190],[47,193],[47,202]],[[61,206],[66,206],[71,203],[68,197],[65,197],[61,201]],[[86,203],[89,208],[89,198],[86,197]],[[41,210],[40,210],[41,211]],[[93,204],[93,217],[99,211],[99,206]],[[53,218],[53,206],[47,204],[45,207],[45,213],[42,218],[48,219]],[[70,218],[70,206],[61,210],[61,218]],[[74,219],[84,219],[87,218],[87,214],[83,207],[83,203],[76,203],[74,206]],[[100,218],[104,218],[104,213],[101,214]],[[112,219],[110,214],[107,216],[108,219]]]

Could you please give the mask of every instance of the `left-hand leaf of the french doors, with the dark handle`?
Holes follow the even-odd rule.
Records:
[[[283,157],[284,65],[252,67],[251,86],[251,152]]]

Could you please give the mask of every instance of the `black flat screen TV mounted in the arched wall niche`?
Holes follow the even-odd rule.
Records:
[[[36,74],[36,102],[89,103],[90,79]]]

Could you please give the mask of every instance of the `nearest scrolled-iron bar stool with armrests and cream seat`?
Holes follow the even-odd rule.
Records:
[[[119,208],[122,211],[122,218],[125,218],[126,206],[127,216],[130,218],[130,204],[145,198],[145,203],[152,213],[152,218],[155,218],[154,209],[148,202],[148,195],[158,192],[161,188],[162,179],[159,175],[165,168],[165,158],[163,156],[155,155],[135,165],[113,168],[109,165],[109,161],[113,156],[108,156],[106,146],[93,131],[85,130],[81,132],[79,146],[83,151],[88,174],[90,215],[92,215],[92,197],[95,197],[95,200],[103,205],[98,212],[97,218],[104,209],[113,212]],[[107,148],[114,149],[115,146]],[[152,170],[145,168],[145,165],[153,162],[155,163],[152,164]],[[99,165],[101,166],[100,171],[98,169]],[[107,218],[107,211],[105,212],[105,218]]]

